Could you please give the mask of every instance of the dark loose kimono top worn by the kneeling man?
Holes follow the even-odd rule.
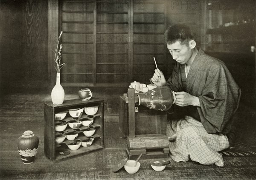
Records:
[[[200,121],[208,133],[228,134],[239,106],[241,90],[225,64],[198,50],[186,78],[185,64],[176,63],[166,83],[172,91],[185,91],[199,98],[201,107],[177,107]]]

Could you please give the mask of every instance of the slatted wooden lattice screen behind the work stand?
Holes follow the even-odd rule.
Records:
[[[156,3],[157,2],[157,3]],[[66,86],[148,83],[153,57],[163,69],[165,1],[59,1]]]

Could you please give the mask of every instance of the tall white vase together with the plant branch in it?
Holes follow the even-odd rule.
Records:
[[[66,64],[66,63],[61,63],[62,44],[59,44],[59,42],[60,42],[62,33],[63,33],[63,31],[61,31],[61,34],[58,37],[57,48],[54,49],[55,58],[53,58],[56,63],[56,66],[54,66],[54,68],[57,71],[57,74],[56,74],[56,84],[55,84],[54,88],[52,89],[51,97],[52,97],[52,103],[56,104],[56,105],[63,104],[64,97],[65,97],[65,92],[64,92],[63,87],[61,86],[61,80],[60,80],[61,79],[61,68],[63,68],[64,65]]]

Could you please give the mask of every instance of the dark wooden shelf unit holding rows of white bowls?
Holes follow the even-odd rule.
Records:
[[[75,142],[73,140],[64,140],[63,143],[57,144],[55,142],[55,134],[58,132],[55,131],[55,123],[58,122],[55,120],[55,114],[58,112],[67,111],[67,115],[64,120],[69,121],[70,118],[73,118],[68,113],[68,109],[84,108],[90,106],[99,106],[97,113],[94,115],[94,121],[91,126],[95,127],[96,131],[93,134],[95,137],[93,143],[89,147],[80,146],[76,151],[70,150],[67,145],[64,143]],[[85,112],[83,111],[83,116]],[[44,154],[50,160],[54,162],[66,160],[67,158],[77,157],[82,154],[87,154],[96,150],[104,149],[104,100],[98,98],[92,98],[88,101],[82,101],[80,99],[66,100],[61,105],[54,105],[52,103],[44,103]],[[84,129],[86,126],[81,126],[79,129]],[[72,131],[68,125],[65,131]],[[76,139],[83,140],[86,138],[81,132]],[[68,155],[57,155],[57,151],[60,149],[69,150],[70,154]]]

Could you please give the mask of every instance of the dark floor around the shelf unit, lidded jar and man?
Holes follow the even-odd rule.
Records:
[[[0,179],[92,179],[92,180],[166,180],[166,179],[256,179],[256,157],[224,157],[224,168],[203,166],[195,162],[172,162],[164,171],[154,171],[149,160],[140,160],[136,174],[124,169],[113,173],[111,169],[126,157],[125,139],[118,130],[118,96],[96,93],[105,98],[105,149],[60,163],[52,163],[44,156],[44,109],[50,101],[48,94],[12,94],[1,100],[0,108]],[[66,94],[66,99],[77,95]],[[235,116],[237,139],[256,149],[255,110],[242,105]],[[39,137],[35,162],[24,165],[17,152],[17,137],[32,130]]]

